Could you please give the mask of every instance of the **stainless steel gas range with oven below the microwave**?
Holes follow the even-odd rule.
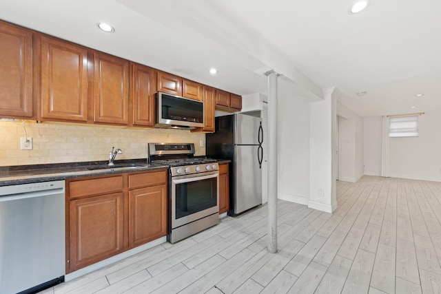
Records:
[[[193,143],[149,143],[149,160],[169,165],[167,241],[178,242],[219,222],[219,166],[194,157]]]

